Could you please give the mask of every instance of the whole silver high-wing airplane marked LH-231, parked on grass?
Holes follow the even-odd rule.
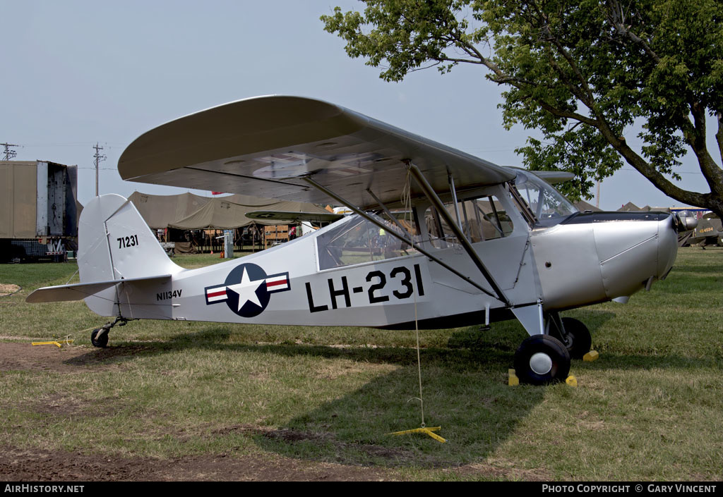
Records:
[[[80,300],[131,319],[435,329],[518,319],[518,378],[564,381],[591,334],[573,308],[625,302],[664,280],[680,220],[579,212],[550,183],[313,98],[270,95],[178,118],[134,140],[127,181],[346,206],[355,215],[268,250],[183,269],[133,204],[80,217],[80,283],[28,302]],[[547,181],[544,181],[547,180]]]

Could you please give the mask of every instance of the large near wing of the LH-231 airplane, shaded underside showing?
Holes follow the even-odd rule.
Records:
[[[265,96],[184,116],[138,137],[121,155],[121,178],[316,204],[328,196],[308,176],[361,208],[401,204],[403,160],[435,191],[514,178],[506,168],[312,98]],[[411,196],[422,190],[411,181]]]

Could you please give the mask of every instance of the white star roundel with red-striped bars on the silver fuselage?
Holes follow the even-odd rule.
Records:
[[[223,285],[206,287],[206,305],[225,302],[239,316],[252,318],[264,311],[272,293],[286,290],[291,290],[288,272],[267,275],[256,264],[239,264]]]

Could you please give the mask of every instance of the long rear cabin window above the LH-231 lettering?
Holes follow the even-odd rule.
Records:
[[[317,237],[319,269],[381,261],[416,253],[414,248],[390,234],[395,231],[407,238],[410,233],[414,240],[418,241],[419,230],[416,228],[416,223],[409,222],[403,213],[400,213],[397,220],[407,232],[403,233],[401,228],[388,218],[373,216],[380,220],[385,228],[380,228],[364,217],[353,216],[337,228],[319,235]]]

